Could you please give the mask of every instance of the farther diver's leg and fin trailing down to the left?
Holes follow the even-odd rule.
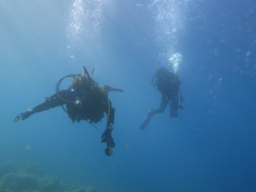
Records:
[[[169,98],[166,98],[166,96],[162,95],[162,99],[161,99],[161,106],[158,109],[155,110],[150,110],[150,112],[147,114],[145,120],[142,122],[142,125],[140,126],[140,130],[145,130],[146,126],[149,124],[150,119],[152,118],[152,116],[154,114],[158,114],[158,113],[162,113],[166,110],[166,106],[169,102]]]

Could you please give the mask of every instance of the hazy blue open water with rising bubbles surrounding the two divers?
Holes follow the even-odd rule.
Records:
[[[0,0],[0,162],[104,192],[256,191],[255,19],[254,0]],[[175,53],[185,109],[138,130],[160,104],[154,71]],[[110,93],[111,157],[106,117],[97,130],[58,107],[13,122],[83,65],[125,90]]]

